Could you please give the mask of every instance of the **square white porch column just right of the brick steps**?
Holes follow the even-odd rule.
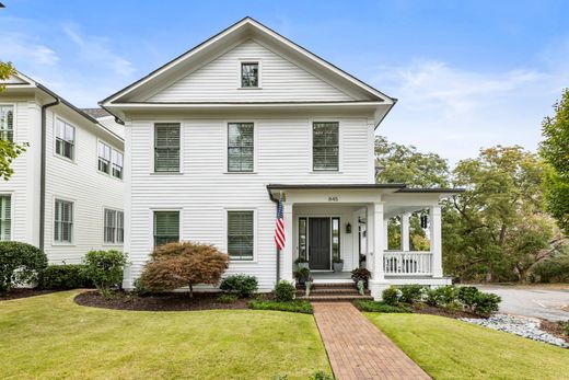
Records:
[[[369,230],[368,235],[373,235],[373,245],[371,245],[373,264],[371,265],[369,288],[373,299],[380,300],[382,291],[388,287],[383,270],[383,251],[385,246],[383,203],[378,201],[368,206],[368,220],[370,220],[370,217],[373,220],[373,228]]]

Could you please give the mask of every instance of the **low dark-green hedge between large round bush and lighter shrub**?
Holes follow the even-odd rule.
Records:
[[[80,264],[48,265],[42,274],[39,286],[43,289],[92,288],[93,281]]]

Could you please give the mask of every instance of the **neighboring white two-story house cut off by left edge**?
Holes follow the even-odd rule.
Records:
[[[0,239],[38,246],[55,264],[123,250],[124,127],[22,73],[3,83],[1,137],[30,147],[0,181]]]

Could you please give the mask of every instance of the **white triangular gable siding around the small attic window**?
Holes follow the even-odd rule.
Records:
[[[241,61],[260,61],[262,89],[240,89]],[[150,102],[352,101],[353,97],[248,39],[149,96]]]

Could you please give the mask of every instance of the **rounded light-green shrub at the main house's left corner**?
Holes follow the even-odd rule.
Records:
[[[127,257],[120,251],[90,251],[83,258],[85,274],[103,297],[109,297],[111,288],[120,286]]]

